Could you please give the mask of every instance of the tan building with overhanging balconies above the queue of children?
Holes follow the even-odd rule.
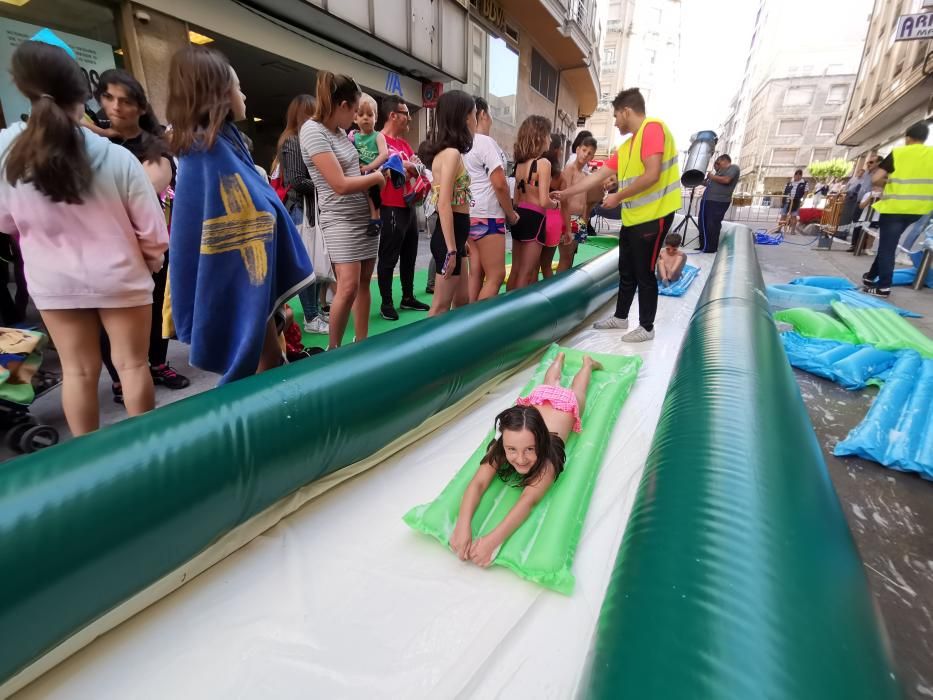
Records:
[[[595,0],[465,0],[467,79],[489,102],[492,137],[511,154],[518,127],[540,114],[568,138],[595,109],[600,26]],[[430,115],[429,115],[430,116]]]

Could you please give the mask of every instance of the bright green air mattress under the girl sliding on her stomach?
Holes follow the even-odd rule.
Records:
[[[602,363],[603,370],[593,373],[582,416],[583,430],[571,433],[567,440],[567,462],[563,473],[528,519],[502,545],[493,563],[507,567],[529,581],[570,594],[574,586],[573,558],[593,486],[609,435],[638,376],[641,358],[584,353],[552,345],[538,364],[534,377],[522,390],[522,396],[541,383],[558,352],[566,353],[561,377],[564,386],[570,385],[582,366],[585,354]],[[410,510],[405,515],[405,522],[449,546],[460,501],[492,438],[493,432],[490,431],[440,496],[431,503]],[[493,480],[473,516],[474,539],[502,522],[521,492],[521,488],[509,486],[500,479]]]

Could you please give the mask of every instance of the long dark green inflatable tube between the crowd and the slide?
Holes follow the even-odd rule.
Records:
[[[618,251],[0,468],[0,682],[302,486],[374,454],[604,304]]]

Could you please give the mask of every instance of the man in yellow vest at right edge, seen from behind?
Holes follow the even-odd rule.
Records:
[[[923,145],[929,135],[926,124],[914,124],[907,130],[906,145],[894,148],[872,175],[873,184],[884,184],[884,194],[874,205],[879,213],[878,254],[862,275],[862,291],[868,294],[890,296],[901,234],[933,211],[933,147]]]

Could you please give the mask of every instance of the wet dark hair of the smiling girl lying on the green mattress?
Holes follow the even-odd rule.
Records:
[[[528,486],[544,475],[549,464],[554,468],[554,478],[560,476],[564,470],[564,462],[567,460],[564,441],[548,430],[547,423],[544,422],[544,417],[537,408],[534,406],[507,408],[496,416],[495,426],[499,437],[492,440],[486,447],[483,462],[493,467],[500,479],[513,486]],[[537,461],[525,475],[516,472],[515,467],[509,464],[505,456],[502,433],[506,430],[515,432],[528,430],[534,435]]]

